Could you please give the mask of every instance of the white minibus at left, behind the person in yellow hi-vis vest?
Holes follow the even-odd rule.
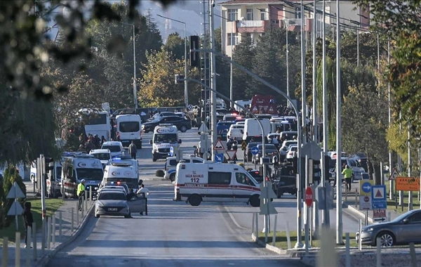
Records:
[[[89,191],[92,187],[92,192],[96,195],[103,176],[104,169],[100,159],[95,159],[93,155],[74,155],[67,157],[62,163],[62,183],[66,197],[77,197],[77,185],[82,179],[86,181],[85,189]]]

